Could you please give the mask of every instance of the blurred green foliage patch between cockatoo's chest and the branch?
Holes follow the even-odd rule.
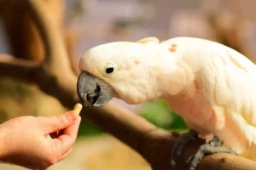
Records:
[[[170,111],[166,100],[158,99],[152,103],[143,104],[140,115],[155,126],[166,130],[187,129],[183,119],[174,111]]]

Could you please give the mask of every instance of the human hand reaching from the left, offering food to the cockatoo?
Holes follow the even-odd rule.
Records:
[[[79,111],[68,111],[60,116],[20,116],[4,122],[0,125],[0,161],[46,169],[72,150],[80,121]]]

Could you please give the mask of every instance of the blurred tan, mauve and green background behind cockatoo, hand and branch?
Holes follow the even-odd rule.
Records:
[[[201,37],[221,42],[256,61],[256,1],[253,0],[42,0],[59,26],[74,71],[81,54],[113,41],[143,37]],[[21,33],[20,33],[21,32]],[[41,62],[44,48],[22,0],[0,0],[0,54]],[[167,130],[185,130],[183,120],[169,111],[165,100],[123,107]],[[67,111],[36,85],[0,77],[0,121],[16,116],[53,116]],[[0,164],[0,169],[25,169]],[[119,140],[89,122],[67,159],[49,170],[149,170],[147,162]]]

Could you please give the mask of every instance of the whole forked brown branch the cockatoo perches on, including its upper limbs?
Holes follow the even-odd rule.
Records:
[[[45,93],[55,96],[66,107],[73,108],[73,105],[79,102],[76,92],[77,75],[72,71],[61,32],[55,26],[55,18],[41,0],[26,0],[26,3],[43,37],[46,60],[43,65],[38,66],[24,60],[1,59],[0,72],[4,71],[5,75],[12,77],[20,77],[18,74],[22,73],[24,79],[29,79],[31,75],[27,76],[27,71],[35,71],[35,75],[40,77],[37,81],[38,86]],[[177,134],[161,130],[143,117],[126,111],[112,102],[101,109],[84,107],[81,116],[131,146],[153,169],[170,170],[170,156]],[[200,139],[189,144],[183,151],[182,159],[177,165],[178,169],[183,169],[184,160],[195,153],[201,144],[203,141]],[[197,169],[206,168],[256,169],[256,163],[240,156],[220,153],[205,157]]]

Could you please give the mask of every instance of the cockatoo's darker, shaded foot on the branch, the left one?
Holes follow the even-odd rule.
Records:
[[[172,148],[172,156],[171,156],[171,167],[174,169],[174,167],[177,164],[177,160],[179,156],[181,156],[181,153],[183,151],[183,148],[193,142],[195,139],[198,139],[198,133],[195,132],[195,130],[191,129],[188,133],[181,134],[178,139],[176,140],[173,148]]]

